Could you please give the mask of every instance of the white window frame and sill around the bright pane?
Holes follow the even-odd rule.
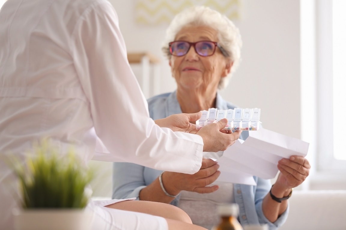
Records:
[[[330,80],[333,76],[333,1],[316,3],[317,169],[346,172],[346,160],[335,159],[333,151],[333,81]],[[319,125],[324,123],[329,123],[327,129]]]

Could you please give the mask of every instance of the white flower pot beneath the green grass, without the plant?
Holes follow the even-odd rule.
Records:
[[[13,209],[16,230],[89,230],[92,213],[84,209]]]

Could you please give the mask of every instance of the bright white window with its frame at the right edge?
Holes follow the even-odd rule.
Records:
[[[317,153],[319,170],[346,170],[346,1],[317,9]]]

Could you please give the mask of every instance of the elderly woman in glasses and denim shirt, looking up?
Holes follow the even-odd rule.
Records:
[[[177,89],[148,99],[151,118],[209,108],[234,109],[217,90],[226,87],[238,66],[241,46],[238,29],[219,12],[200,6],[178,14],[167,29],[163,46]],[[241,138],[247,136],[248,132],[243,131]],[[171,203],[188,213],[194,224],[207,229],[218,222],[216,204],[238,203],[242,225],[268,224],[276,229],[288,216],[287,199],[292,188],[305,180],[310,165],[306,159],[292,156],[280,160],[277,167],[281,173],[273,186],[270,180],[257,177],[257,186],[249,186],[212,184],[220,171],[211,159],[204,159],[199,172],[193,175],[114,163],[113,198]]]

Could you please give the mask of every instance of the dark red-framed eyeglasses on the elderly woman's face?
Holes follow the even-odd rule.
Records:
[[[189,52],[191,46],[194,47],[196,53],[203,57],[213,55],[215,53],[216,47],[219,47],[222,54],[224,54],[225,57],[228,57],[227,52],[215,41],[173,41],[169,43],[169,46],[170,53],[176,57],[184,56]]]

